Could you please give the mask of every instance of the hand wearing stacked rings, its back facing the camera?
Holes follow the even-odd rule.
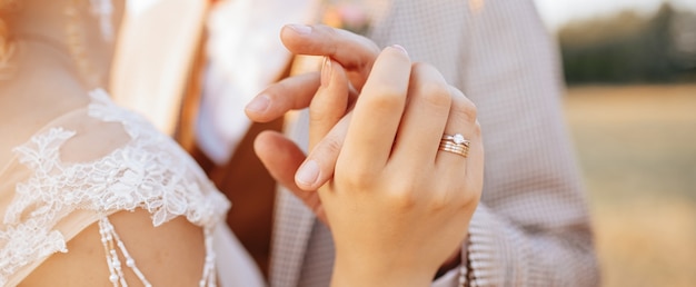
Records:
[[[436,69],[411,66],[402,48],[389,47],[349,120],[334,126],[348,82],[339,65],[327,65],[310,117],[328,125],[311,120],[310,146],[329,130],[346,135],[334,177],[319,188],[336,243],[334,285],[429,286],[466,237],[480,197],[476,109]],[[440,149],[443,135],[457,133],[470,141],[468,157]]]

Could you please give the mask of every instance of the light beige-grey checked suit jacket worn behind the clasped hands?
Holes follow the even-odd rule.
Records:
[[[379,2],[390,7],[370,37],[435,65],[478,108],[486,170],[464,247],[470,285],[598,285],[587,204],[561,115],[557,46],[534,3]],[[306,125],[300,118],[289,132],[301,141]],[[275,220],[271,286],[328,286],[334,247],[327,228],[286,190]],[[457,286],[457,276],[436,285]]]

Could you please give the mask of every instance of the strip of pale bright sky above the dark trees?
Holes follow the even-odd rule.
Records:
[[[570,20],[610,16],[626,9],[654,12],[664,0],[534,0],[546,26],[555,30]],[[696,11],[696,0],[670,0],[677,9]]]

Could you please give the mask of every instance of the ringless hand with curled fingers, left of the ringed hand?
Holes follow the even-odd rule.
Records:
[[[309,33],[297,32],[298,29],[306,28],[308,27],[286,27],[281,32],[284,42],[294,53],[328,55],[328,59],[332,61],[326,61],[329,66],[325,65],[322,71],[325,78],[327,71],[331,71],[329,73],[331,80],[326,82],[324,79],[324,87],[317,90],[320,82],[318,72],[286,79],[270,86],[257,97],[260,102],[266,102],[261,105],[264,107],[261,110],[248,109],[247,113],[252,120],[268,121],[282,116],[290,109],[300,109],[308,107],[310,102],[312,103],[312,109],[310,109],[312,115],[310,129],[312,154],[309,155],[309,160],[316,160],[315,171],[318,172],[314,184],[300,182],[299,186],[296,184],[296,170],[307,158],[300,148],[282,135],[272,131],[261,133],[255,142],[255,149],[274,178],[302,199],[319,219],[326,222],[326,214],[317,192],[305,190],[316,189],[334,175],[334,167],[346,137],[346,127],[349,121],[349,116],[344,117],[348,106],[346,75],[351,79],[350,85],[361,87],[379,50],[366,38],[324,26],[309,27]],[[342,66],[349,68],[344,69]],[[453,95],[457,97],[454,102],[464,101],[464,106],[468,107],[466,109],[471,111],[468,113],[473,119],[471,121],[475,121],[474,106],[458,90],[448,89],[451,89]],[[341,119],[341,117],[344,118]],[[339,119],[340,122],[338,122]],[[334,127],[335,125],[336,127]],[[478,131],[478,123],[475,123],[475,130]],[[320,139],[324,140],[318,145]],[[475,169],[473,172],[483,174],[483,158],[480,162],[471,166]],[[461,225],[467,226],[468,220],[461,221]],[[453,251],[450,259],[457,260],[460,256],[459,251],[454,249]],[[449,260],[445,265],[450,266]]]

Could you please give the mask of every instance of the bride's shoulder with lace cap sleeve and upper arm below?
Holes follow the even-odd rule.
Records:
[[[212,265],[206,264],[212,250],[206,243],[229,201],[176,142],[116,107],[106,93],[98,96],[88,108],[47,126],[18,149],[22,165],[34,172],[19,179],[32,192],[17,192],[12,224],[43,226],[13,228],[14,237],[54,244],[50,250],[19,255],[16,267],[31,270],[22,285],[111,285],[109,263],[115,261],[108,257],[113,253],[128,284],[140,285],[140,271],[153,286],[196,286],[203,277],[212,279]],[[110,216],[96,220],[99,216],[81,218],[80,212]],[[122,248],[103,236],[100,224],[113,226]],[[54,231],[64,239],[51,237]],[[67,253],[58,253],[63,250],[58,244],[64,244]],[[43,260],[46,254],[52,255]],[[129,258],[137,269],[130,268]]]

